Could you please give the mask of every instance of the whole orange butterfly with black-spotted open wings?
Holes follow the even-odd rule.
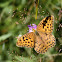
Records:
[[[30,47],[34,48],[37,53],[45,53],[51,47],[54,47],[55,37],[52,35],[54,24],[54,16],[45,17],[38,24],[34,32],[28,32],[27,34],[18,38],[16,46],[18,47]]]

